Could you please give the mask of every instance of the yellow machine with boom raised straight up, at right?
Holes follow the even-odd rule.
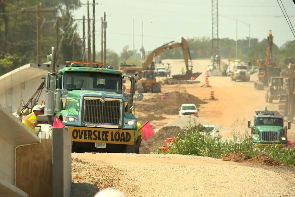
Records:
[[[268,86],[271,76],[280,76],[281,67],[273,61],[273,35],[269,30],[266,44],[266,55],[264,60],[257,60],[258,75],[254,83],[255,89],[263,89]]]

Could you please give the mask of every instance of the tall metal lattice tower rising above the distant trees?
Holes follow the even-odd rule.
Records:
[[[212,0],[212,66],[214,66],[214,58],[216,55],[219,56],[219,46],[218,46],[218,0]],[[220,60],[217,60],[217,69],[220,67]]]

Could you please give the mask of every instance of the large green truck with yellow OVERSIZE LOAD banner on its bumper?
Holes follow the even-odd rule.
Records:
[[[141,93],[135,96],[134,77],[125,77],[130,79],[131,93],[124,93],[124,76],[112,66],[67,63],[74,64],[55,71],[52,48],[51,71],[45,75],[44,84],[47,123],[53,125],[55,115],[63,121],[72,136],[73,152],[134,153],[138,135],[135,101],[143,98]]]

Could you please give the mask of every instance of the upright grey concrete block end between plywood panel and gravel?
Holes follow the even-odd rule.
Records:
[[[72,184],[72,139],[63,128],[53,128],[53,197],[70,197]]]

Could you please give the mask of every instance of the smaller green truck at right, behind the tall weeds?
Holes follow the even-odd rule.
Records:
[[[287,143],[287,129],[291,128],[291,122],[288,121],[288,127],[284,126],[283,116],[278,111],[255,111],[254,124],[251,125],[248,120],[248,128],[251,128],[251,139],[254,144],[283,144]]]

